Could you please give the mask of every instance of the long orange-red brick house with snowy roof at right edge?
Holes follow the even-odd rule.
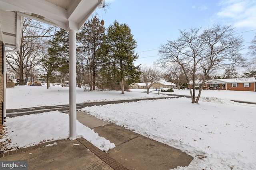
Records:
[[[226,78],[207,80],[206,87],[215,87],[219,90],[256,91],[256,79],[250,78]]]

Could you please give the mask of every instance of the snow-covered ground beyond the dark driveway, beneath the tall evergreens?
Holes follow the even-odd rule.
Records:
[[[156,97],[159,96],[156,94],[147,95],[146,93],[141,93],[141,91],[121,94],[121,91],[85,92],[83,88],[76,88],[77,103]],[[51,84],[50,88],[47,89],[46,84],[44,84],[43,86],[15,86],[14,88],[6,89],[6,109],[62,104],[69,104],[68,87],[52,86]]]

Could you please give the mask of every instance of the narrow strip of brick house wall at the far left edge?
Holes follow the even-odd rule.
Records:
[[[0,129],[3,127],[3,102],[4,102],[4,76],[3,76],[3,56],[4,43],[0,41]]]

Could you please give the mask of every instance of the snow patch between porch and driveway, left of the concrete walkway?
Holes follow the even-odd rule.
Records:
[[[109,150],[115,147],[82,123],[77,121],[76,124],[78,136],[84,137],[99,149]],[[58,111],[9,118],[4,125],[8,129],[8,139],[12,142],[9,147],[12,148],[24,148],[69,137],[69,116]]]

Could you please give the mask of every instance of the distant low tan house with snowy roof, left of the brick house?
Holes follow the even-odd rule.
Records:
[[[150,83],[148,83],[148,86]],[[132,83],[129,85],[130,89],[147,89],[146,83]],[[162,88],[176,88],[176,84],[171,83],[171,82],[165,82],[165,81],[158,81],[152,84],[150,89],[157,88],[157,89],[162,89]]]

